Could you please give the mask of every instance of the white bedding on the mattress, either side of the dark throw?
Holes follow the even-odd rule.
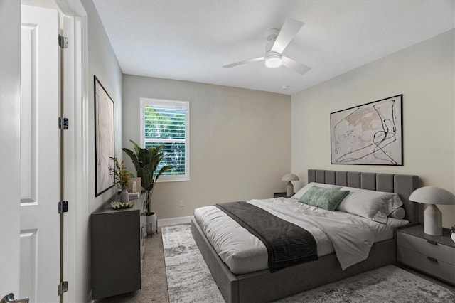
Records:
[[[407,220],[388,218],[387,224],[297,202],[295,198],[248,201],[275,216],[308,230],[316,240],[318,256],[336,253],[343,270],[365,260],[371,245],[394,238],[397,226]],[[216,206],[196,208],[194,216],[221,260],[236,275],[265,270],[265,245]]]

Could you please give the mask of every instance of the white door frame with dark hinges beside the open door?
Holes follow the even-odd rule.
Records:
[[[63,302],[90,302],[90,258],[88,251],[88,21],[80,0],[55,0],[63,13],[69,46],[64,50],[64,108],[70,127],[65,130],[65,213],[63,280],[68,292]],[[77,266],[78,265],[78,266]],[[88,297],[87,297],[88,296]]]

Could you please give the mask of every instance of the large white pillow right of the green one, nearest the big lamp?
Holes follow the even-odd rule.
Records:
[[[387,223],[387,216],[403,205],[400,196],[396,193],[353,187],[343,187],[341,190],[350,191],[350,193],[338,205],[339,211],[352,213],[379,223]]]

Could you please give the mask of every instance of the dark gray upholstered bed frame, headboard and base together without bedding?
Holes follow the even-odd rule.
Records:
[[[410,223],[418,221],[418,205],[409,200],[410,193],[418,187],[417,176],[309,169],[308,182],[397,193],[405,208],[405,219]],[[330,253],[322,255],[319,260],[276,272],[264,269],[235,274],[215,251],[195,218],[191,220],[191,231],[226,302],[269,302],[396,260],[395,238],[391,238],[375,242],[365,260],[345,270],[342,270],[336,254]]]

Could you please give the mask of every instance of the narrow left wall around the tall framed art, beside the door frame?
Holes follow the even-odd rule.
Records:
[[[96,75],[100,83],[105,87],[109,96],[114,100],[115,110],[115,153],[122,156],[122,70],[120,70],[117,57],[107,38],[104,26],[100,21],[100,16],[95,9],[92,0],[81,0],[88,21],[88,121],[86,138],[88,143],[88,184],[89,194],[87,201],[77,201],[76,203],[87,203],[86,206],[73,206],[73,210],[87,210],[86,222],[77,223],[77,238],[75,239],[76,251],[75,264],[78,265],[75,279],[75,301],[90,302],[90,213],[98,208],[102,203],[112,196],[116,188],[105,191],[102,195],[95,197],[95,100],[93,76]],[[70,206],[71,207],[71,206]],[[80,215],[83,216],[83,215]]]

